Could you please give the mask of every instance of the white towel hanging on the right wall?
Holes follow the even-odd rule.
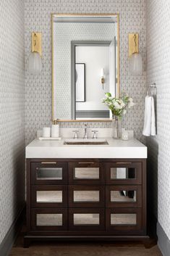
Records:
[[[145,120],[143,135],[156,135],[156,116],[153,96],[145,96]]]

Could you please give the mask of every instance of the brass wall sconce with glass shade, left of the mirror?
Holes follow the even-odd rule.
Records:
[[[33,75],[41,73],[41,33],[32,33],[31,53],[28,58],[28,72]]]

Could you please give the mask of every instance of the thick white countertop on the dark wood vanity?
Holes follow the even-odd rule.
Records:
[[[64,145],[64,138],[61,141],[35,139],[26,146],[26,158],[147,158],[147,147],[137,139],[103,139],[109,145]]]

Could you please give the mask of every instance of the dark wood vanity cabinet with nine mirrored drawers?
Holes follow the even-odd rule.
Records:
[[[27,235],[146,239],[146,160],[27,159]]]

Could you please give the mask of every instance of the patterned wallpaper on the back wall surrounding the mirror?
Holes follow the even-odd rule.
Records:
[[[124,117],[125,128],[134,129],[143,141],[145,72],[134,77],[128,70],[128,33],[140,33],[140,52],[145,62],[145,0],[25,0],[25,86],[26,143],[35,138],[36,131],[51,124],[51,13],[116,13],[120,14],[121,89],[135,102],[134,110]],[[27,73],[30,54],[30,34],[43,33],[43,70],[40,75]],[[111,123],[88,123],[93,127],[110,127]],[[61,127],[81,127],[82,123],[61,123]]]

